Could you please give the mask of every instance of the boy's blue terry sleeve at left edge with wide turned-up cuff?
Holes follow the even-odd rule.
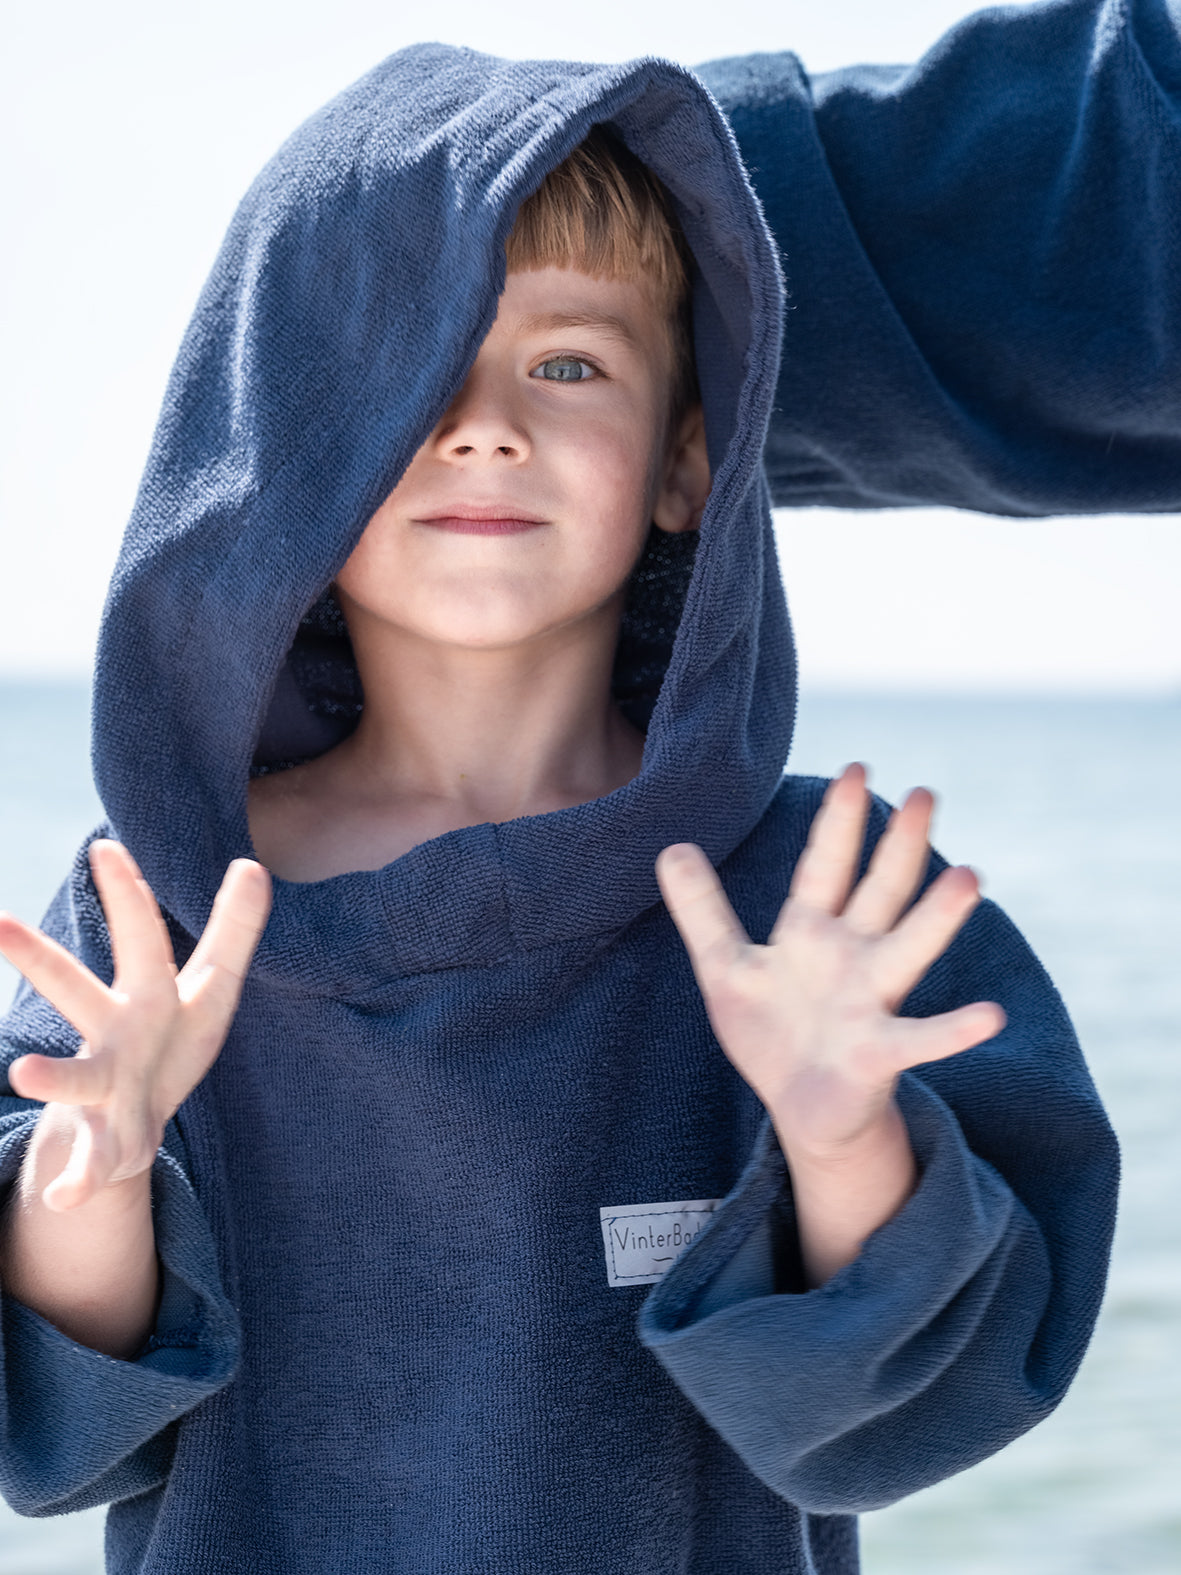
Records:
[[[112,978],[85,849],[43,928],[101,978]],[[31,1051],[72,1055],[76,1049],[74,1030],[22,986],[0,1025],[0,1200],[20,1170],[41,1109],[13,1093],[5,1069]],[[156,1158],[151,1199],[162,1295],[156,1328],[132,1361],[77,1345],[0,1287],[0,1493],[19,1514],[58,1515],[157,1487],[172,1463],[180,1418],[233,1377],[238,1317],[222,1288],[176,1121]]]

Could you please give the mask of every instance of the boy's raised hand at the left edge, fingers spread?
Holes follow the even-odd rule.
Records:
[[[263,866],[235,860],[178,972],[131,854],[99,839],[90,866],[115,958],[110,986],[38,929],[0,915],[0,951],[83,1041],[74,1057],[22,1055],[8,1071],[16,1093],[46,1101],[58,1145],[69,1143],[43,1192],[50,1210],[76,1208],[151,1166],[165,1121],[220,1052],[271,907]]]

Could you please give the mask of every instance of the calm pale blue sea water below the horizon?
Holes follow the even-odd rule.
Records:
[[[0,901],[36,918],[96,819],[85,695],[0,687]],[[1123,1139],[1107,1304],[1060,1410],[994,1460],[863,1520],[868,1575],[1181,1570],[1181,702],[814,696],[792,769],[872,762],[945,800],[1063,991]],[[0,976],[9,994],[11,973]],[[0,1575],[99,1575],[102,1512],[0,1504]]]

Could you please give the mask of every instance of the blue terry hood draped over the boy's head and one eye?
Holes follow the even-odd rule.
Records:
[[[356,997],[619,929],[653,860],[716,862],[778,786],[795,665],[762,472],[781,343],[773,243],[705,87],[660,60],[392,55],[313,115],[242,200],[164,400],[94,687],[113,832],[187,934],[250,854],[252,769],[328,748],[356,674],[326,587],[460,389],[546,172],[608,124],[668,186],[694,257],[713,487],[696,553],[658,539],[616,691],[647,742],[605,799],[422,843],[379,871],[276,882],[255,967]],[[677,545],[682,542],[682,545]]]

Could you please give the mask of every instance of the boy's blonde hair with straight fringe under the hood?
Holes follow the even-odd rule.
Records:
[[[526,197],[504,243],[509,272],[579,268],[598,279],[636,279],[665,313],[672,348],[672,424],[698,402],[690,318],[690,249],[672,198],[605,126],[550,170]]]

